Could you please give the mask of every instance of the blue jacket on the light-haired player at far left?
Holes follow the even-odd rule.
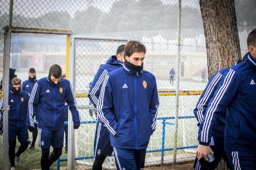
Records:
[[[27,108],[28,108],[29,94],[26,91],[20,92],[15,95],[9,91],[9,105],[10,111],[8,114],[9,130],[19,130],[26,127]],[[3,99],[0,102],[0,108],[3,108]],[[1,112],[1,121],[2,121]]]

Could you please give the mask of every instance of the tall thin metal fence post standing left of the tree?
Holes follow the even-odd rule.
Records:
[[[178,48],[176,58],[176,101],[175,101],[175,131],[174,131],[174,144],[173,144],[173,163],[176,162],[177,155],[177,138],[178,138],[178,116],[179,116],[179,91],[180,91],[180,34],[181,34],[181,0],[179,0],[179,13],[178,13]]]

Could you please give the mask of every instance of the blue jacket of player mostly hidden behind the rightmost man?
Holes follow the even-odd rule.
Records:
[[[198,127],[200,126],[200,124],[202,123],[202,121],[204,119],[204,115],[208,108],[208,104],[209,104],[211,98],[213,97],[214,92],[218,88],[218,85],[221,81],[223,74],[228,69],[229,69],[229,67],[223,68],[220,71],[218,71],[217,73],[215,73],[214,75],[212,75],[212,77],[210,78],[209,82],[207,83],[207,85],[204,89],[204,92],[200,96],[200,98],[196,104],[196,108],[194,109],[194,115],[196,116],[196,120],[198,122],[198,124],[197,124]],[[214,134],[212,135],[214,137],[214,141],[213,141],[213,138],[211,138],[210,145],[214,145],[214,142],[223,144],[224,131],[225,131],[225,125],[226,125],[226,111],[224,111],[218,117],[217,124],[218,125],[216,125],[213,130]]]

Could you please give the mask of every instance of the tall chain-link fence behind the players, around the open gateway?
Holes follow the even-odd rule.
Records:
[[[9,9],[12,9],[10,6],[13,10],[9,12]],[[256,3],[254,0],[235,0],[235,6],[243,56],[247,53],[247,35],[256,26],[254,19]],[[156,76],[160,96],[157,127],[151,136],[149,152],[146,155],[147,165],[191,160],[195,155],[193,147],[197,143],[197,127],[196,119],[191,116],[200,91],[204,89],[208,80],[205,38],[198,0],[182,0],[180,19],[178,14],[179,0],[0,1],[0,26],[4,28],[9,25],[12,32],[66,34],[72,30],[75,35],[126,37],[140,40],[145,44],[147,53],[144,69]],[[8,37],[11,38],[11,35],[7,34],[8,31],[11,30],[1,29],[0,33],[0,79],[3,78],[4,73],[7,76],[7,85],[9,58],[4,60],[4,53],[7,52],[5,56],[10,56]],[[105,63],[121,43],[124,42],[82,39],[76,41],[74,88],[78,97],[81,120],[85,121],[85,124],[82,124],[75,133],[74,157],[86,158],[75,162],[77,169],[89,167],[93,162],[93,140],[97,117],[86,97],[88,86],[99,65]],[[26,51],[25,46],[12,55],[18,58],[20,53],[19,58],[22,59],[24,51]],[[55,56],[50,58],[52,61],[59,60]],[[4,65],[4,61],[7,65]],[[17,67],[20,63],[17,62]],[[4,68],[7,72],[4,72]],[[180,91],[179,100],[175,96],[177,89]],[[6,95],[8,97],[8,93],[5,93],[4,97]],[[177,101],[179,103],[176,103]],[[5,115],[7,104],[5,100]],[[8,160],[7,148],[4,155],[4,145],[7,145],[8,136],[6,136],[6,128],[4,131],[4,138],[0,138],[0,168],[4,167],[4,161],[6,164]],[[104,167],[114,166],[113,157],[107,158]]]

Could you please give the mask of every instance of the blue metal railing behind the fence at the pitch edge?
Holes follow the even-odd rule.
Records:
[[[178,119],[189,119],[189,118],[196,118],[195,116],[179,116]],[[174,148],[164,148],[164,143],[165,143],[165,125],[169,124],[169,125],[175,125],[174,123],[171,122],[166,122],[166,120],[170,120],[170,119],[175,119],[175,117],[156,117],[156,120],[163,120],[162,124],[163,124],[163,131],[162,131],[162,147],[161,149],[153,149],[153,150],[147,150],[147,153],[151,153],[151,152],[161,152],[161,164],[164,163],[164,151],[172,151]],[[82,121],[81,124],[95,124],[97,123],[97,120],[89,120],[89,121]],[[67,125],[68,122],[65,122],[65,125]],[[190,146],[181,146],[181,147],[177,147],[177,150],[179,149],[188,149],[188,148],[196,148],[197,145],[190,145]],[[114,156],[114,154],[112,154],[111,156]],[[82,159],[92,159],[94,158],[94,156],[82,156],[82,157],[75,157],[75,160],[82,160]],[[63,161],[68,161],[68,158],[59,158],[56,163],[57,163],[57,170],[60,170],[60,162]]]

